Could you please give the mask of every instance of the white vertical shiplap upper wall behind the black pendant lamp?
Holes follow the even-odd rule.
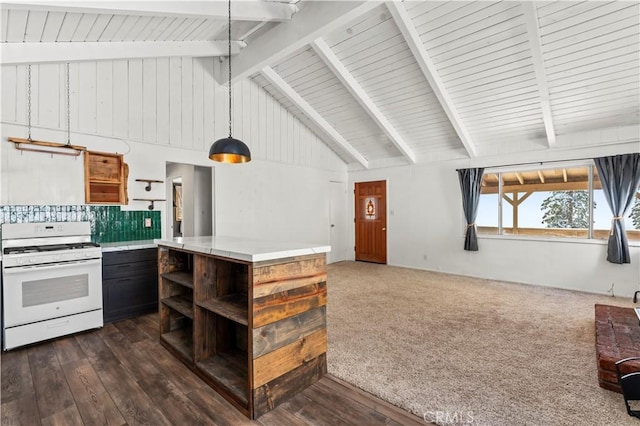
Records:
[[[70,64],[72,143],[79,134],[206,151],[228,132],[227,88],[213,58],[152,58]],[[32,137],[66,130],[66,64],[32,66]],[[27,123],[27,66],[1,67],[1,120]],[[233,87],[233,135],[253,158],[345,171],[308,127],[250,80]],[[24,134],[13,135],[25,137]],[[120,145],[121,146],[121,145]]]

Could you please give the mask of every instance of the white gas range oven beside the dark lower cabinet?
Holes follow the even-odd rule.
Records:
[[[102,327],[102,250],[89,222],[2,226],[3,349]]]

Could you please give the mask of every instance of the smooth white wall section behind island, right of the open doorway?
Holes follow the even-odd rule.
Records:
[[[262,162],[247,166],[216,167],[217,235],[329,243],[328,182],[345,174]]]

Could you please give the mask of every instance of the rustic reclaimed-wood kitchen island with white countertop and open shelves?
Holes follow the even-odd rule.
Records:
[[[327,371],[329,246],[157,240],[160,342],[251,419]]]

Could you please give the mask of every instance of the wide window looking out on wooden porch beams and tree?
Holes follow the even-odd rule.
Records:
[[[573,165],[485,171],[476,224],[485,235],[606,239],[611,218],[596,168]],[[640,188],[625,227],[640,241]]]

